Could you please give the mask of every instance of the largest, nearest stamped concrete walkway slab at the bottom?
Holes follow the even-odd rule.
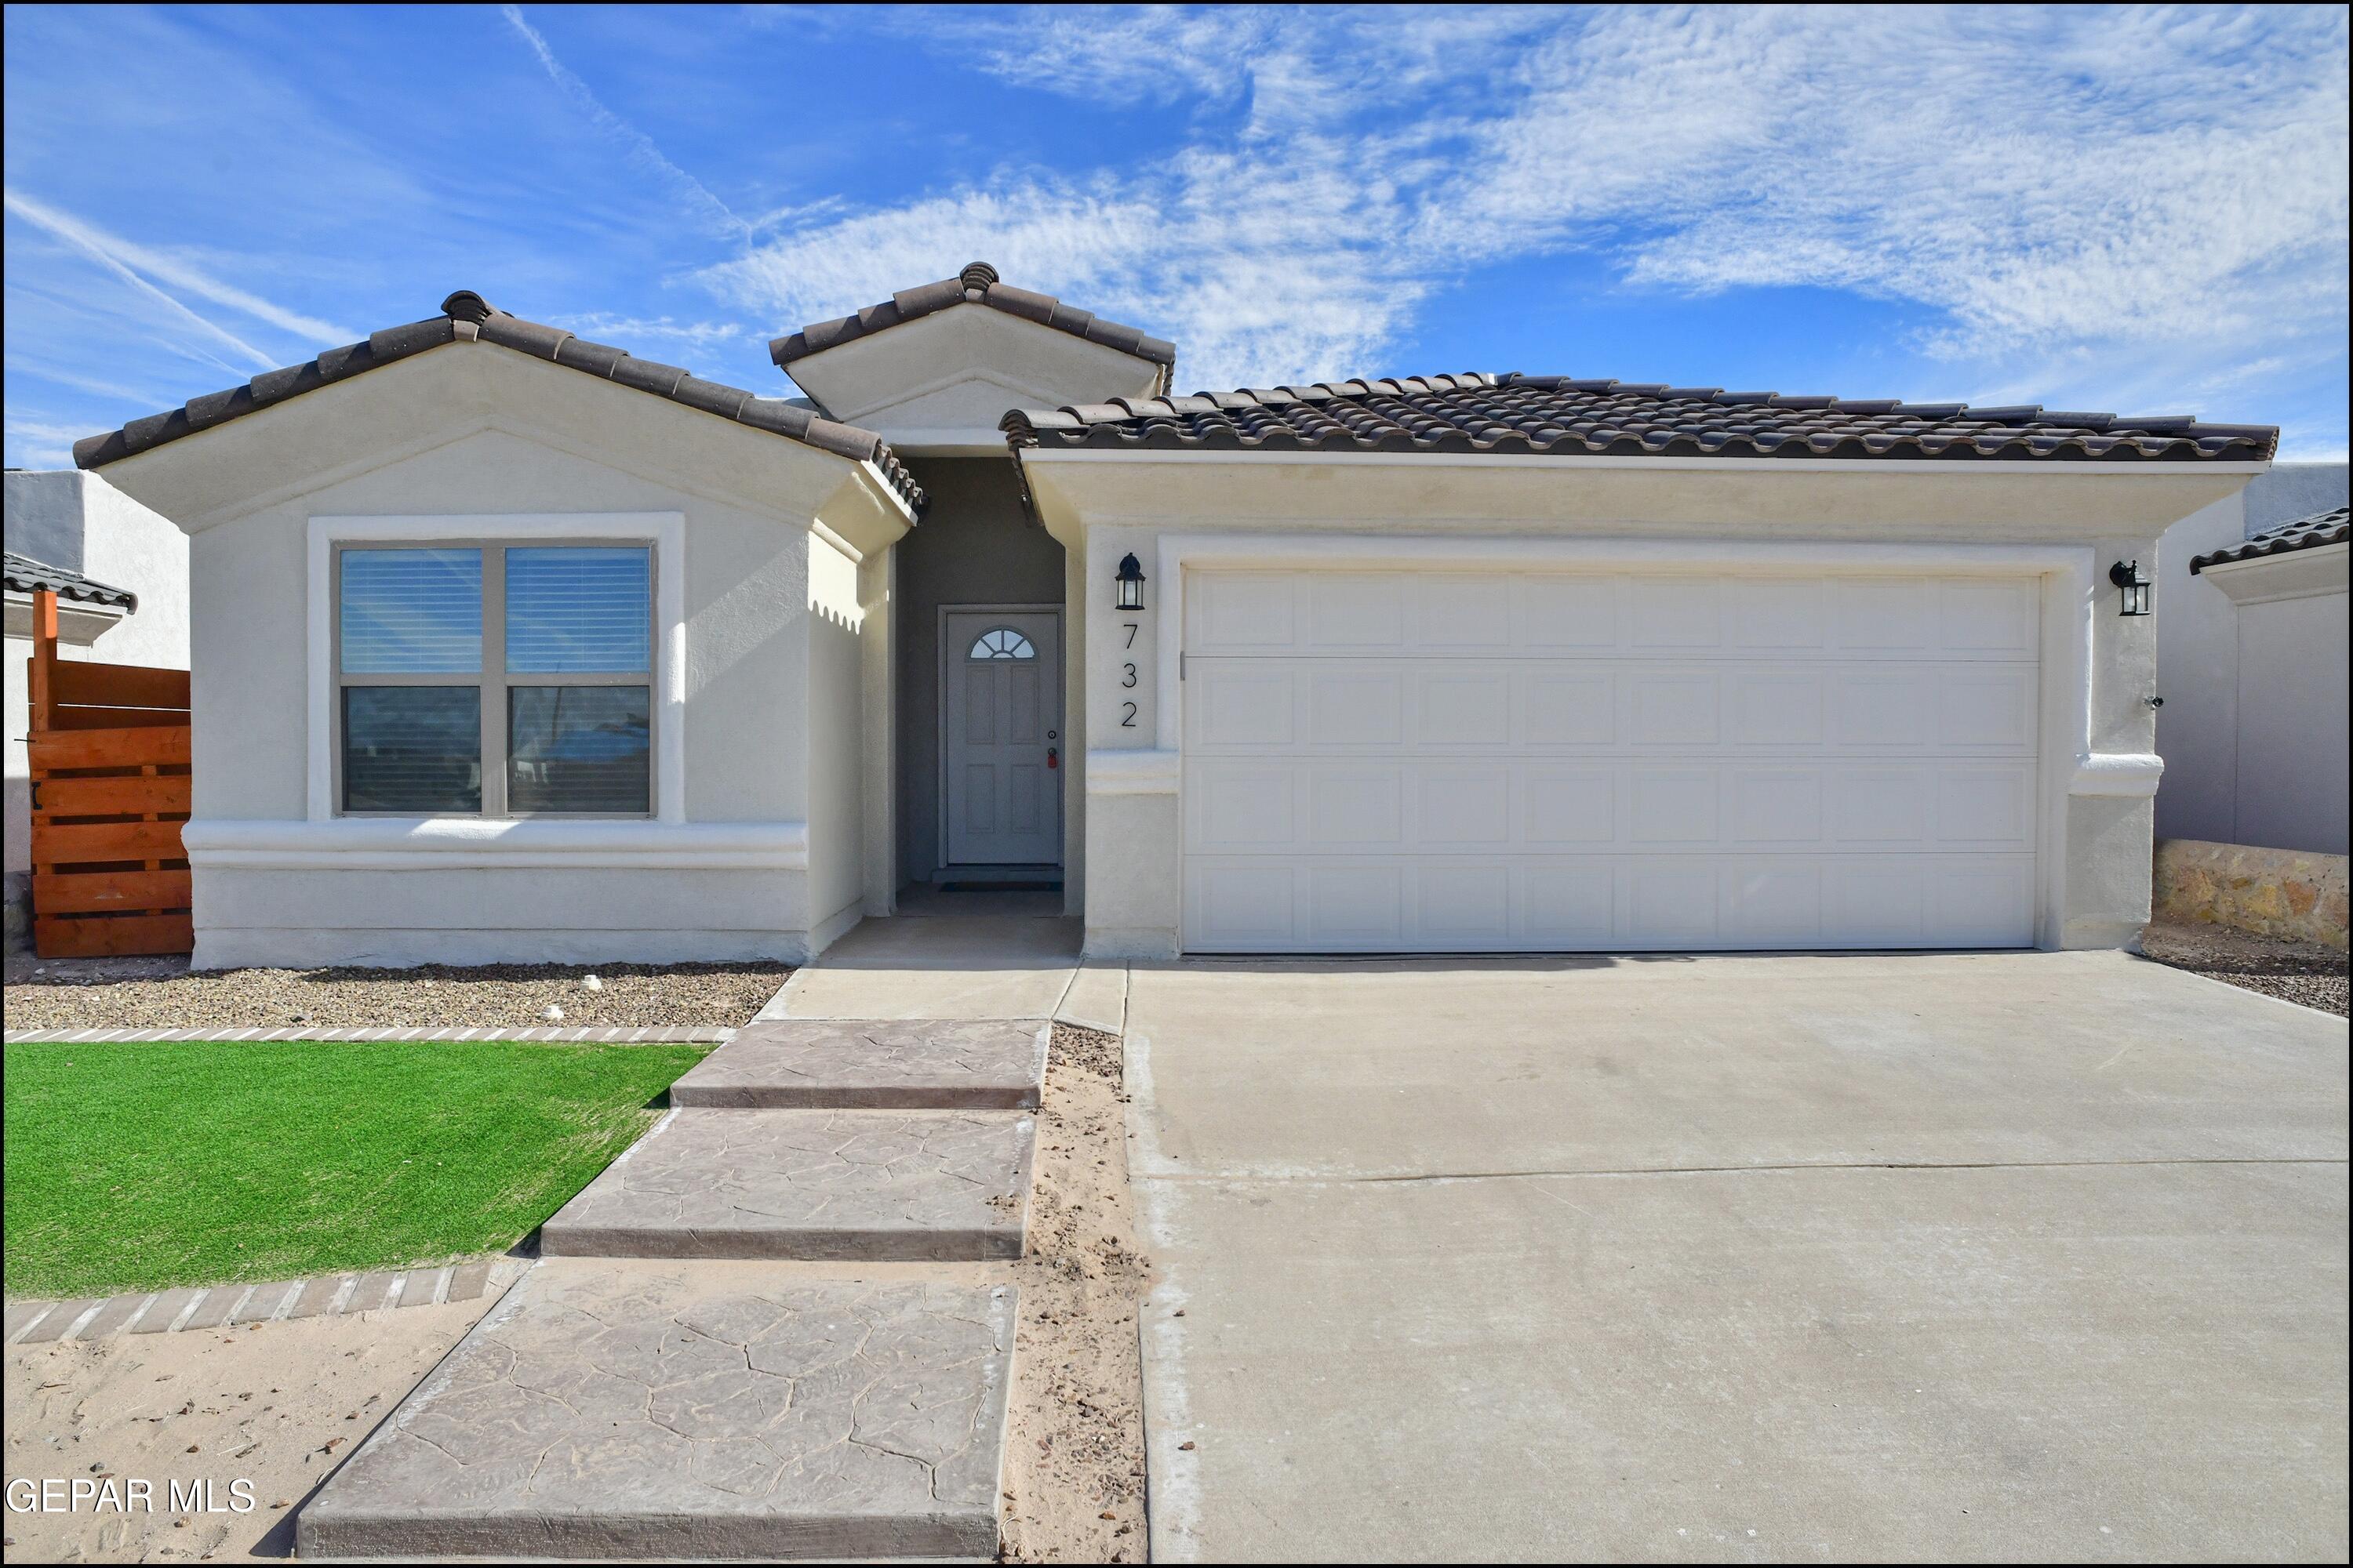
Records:
[[[541,1262],[296,1556],[993,1559],[1012,1349],[1012,1286]]]

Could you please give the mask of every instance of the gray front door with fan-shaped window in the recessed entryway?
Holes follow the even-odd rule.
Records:
[[[1061,865],[1061,611],[944,621],[948,865]]]

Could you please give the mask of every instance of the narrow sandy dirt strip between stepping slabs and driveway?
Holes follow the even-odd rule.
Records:
[[[1127,1194],[1120,1037],[1054,1025],[1005,1432],[1002,1556],[1141,1563],[1151,1262]]]

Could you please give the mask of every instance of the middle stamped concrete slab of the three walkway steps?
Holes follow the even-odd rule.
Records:
[[[1019,1258],[1026,1112],[673,1110],[539,1232],[548,1258]]]

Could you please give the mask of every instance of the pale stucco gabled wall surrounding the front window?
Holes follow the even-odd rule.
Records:
[[[906,517],[871,470],[456,343],[108,473],[191,531],[200,966],[802,959],[856,903],[856,569],[812,520],[885,552]],[[680,820],[332,820],[311,520],[609,512],[682,517],[682,649],[654,675],[685,693]]]

